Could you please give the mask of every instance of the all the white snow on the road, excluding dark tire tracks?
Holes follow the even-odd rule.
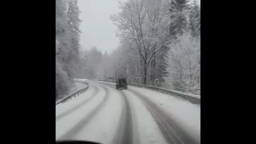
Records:
[[[87,96],[93,93],[91,85],[96,84],[95,81],[89,81],[89,89],[83,93]],[[109,83],[110,82],[100,82]],[[99,93],[96,98],[92,99],[89,103],[82,106],[81,108],[73,111],[69,115],[59,119],[56,122],[56,139],[60,138],[65,132],[69,131],[71,127],[75,126],[83,117],[90,113],[105,95],[105,91],[102,87],[99,87]],[[115,132],[117,130],[121,110],[122,110],[122,97],[120,93],[113,88],[108,86],[107,89],[110,92],[110,97],[105,103],[106,105],[92,117],[91,121],[87,123],[83,129],[75,135],[74,139],[78,140],[92,140],[102,143],[111,143],[113,141]],[[132,108],[133,121],[135,121],[136,129],[138,130],[139,138],[141,143],[166,143],[161,132],[158,130],[154,119],[151,117],[147,109],[139,101],[136,95],[132,94],[131,91],[137,91],[138,93],[145,95],[151,101],[155,102],[162,110],[164,110],[170,117],[176,121],[188,134],[190,134],[195,140],[200,143],[201,132],[200,132],[200,111],[199,105],[194,105],[187,100],[176,98],[167,94],[156,92],[153,90],[143,89],[134,86],[128,86],[128,90],[122,90],[126,95],[129,95],[129,102]],[[83,95],[82,94],[82,95]],[[81,95],[81,96],[82,96]],[[79,95],[80,96],[80,95]],[[90,97],[90,96],[89,96]],[[79,99],[81,100],[79,100]],[[82,101],[84,97],[77,97],[65,103],[60,103],[56,106],[57,115],[63,113],[63,111],[72,108],[74,105],[78,105],[79,101]],[[72,104],[71,104],[72,103]],[[134,110],[135,109],[135,110]],[[135,120],[134,120],[135,118]]]

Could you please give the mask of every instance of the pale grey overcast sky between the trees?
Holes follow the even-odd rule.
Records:
[[[124,2],[126,0],[119,0]],[[197,0],[200,4],[200,0]],[[119,44],[116,37],[117,27],[109,19],[111,14],[118,13],[117,0],[78,0],[79,17],[82,20],[80,44],[82,50],[95,46],[102,53],[110,53]]]

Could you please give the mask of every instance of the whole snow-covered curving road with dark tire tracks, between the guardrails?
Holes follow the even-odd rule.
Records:
[[[86,92],[56,105],[56,140],[201,142],[200,106],[133,86],[116,90],[114,83],[89,81],[89,85]]]

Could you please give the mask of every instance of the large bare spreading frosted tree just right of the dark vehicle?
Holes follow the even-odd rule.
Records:
[[[188,31],[187,3],[181,0],[129,0],[120,3],[121,13],[112,15],[111,20],[118,27],[118,36],[122,40],[118,49],[125,51],[121,58],[125,61],[122,67],[125,67],[121,71],[125,69],[131,82],[134,79],[151,85],[155,79],[159,79],[159,83],[164,82],[167,74],[165,56],[169,50],[166,45]]]

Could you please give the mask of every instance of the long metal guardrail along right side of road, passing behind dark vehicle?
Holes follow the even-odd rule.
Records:
[[[101,79],[87,79],[87,80],[88,81],[113,82],[113,81],[105,81],[105,80],[101,80]],[[137,87],[143,87],[143,88],[146,88],[146,89],[155,90],[155,91],[166,93],[166,94],[172,94],[174,96],[177,95],[178,97],[180,97],[182,99],[186,99],[186,100],[190,101],[191,103],[201,105],[201,97],[198,96],[198,95],[187,94],[187,93],[182,93],[182,92],[179,92],[179,91],[163,89],[161,87],[155,87],[155,86],[151,86],[151,85],[142,85],[142,84],[133,84],[133,83],[127,83],[127,84],[131,85],[131,86],[137,86]]]

